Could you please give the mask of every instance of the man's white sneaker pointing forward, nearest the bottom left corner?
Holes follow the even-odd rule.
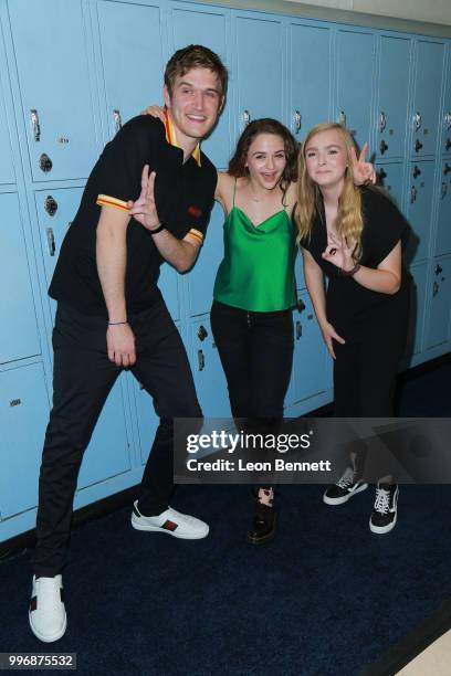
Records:
[[[63,636],[67,617],[61,575],[38,580],[33,575],[29,621],[33,634],[44,643],[52,643]]]

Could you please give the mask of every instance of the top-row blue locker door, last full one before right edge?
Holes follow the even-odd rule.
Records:
[[[412,157],[436,152],[444,44],[419,40],[410,129]]]

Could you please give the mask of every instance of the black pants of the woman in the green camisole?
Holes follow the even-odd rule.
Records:
[[[275,434],[293,365],[292,311],[252,313],[214,300],[211,330],[233,418],[247,419],[248,431]]]

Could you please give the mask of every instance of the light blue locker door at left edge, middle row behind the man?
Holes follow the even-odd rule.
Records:
[[[41,353],[19,197],[0,194],[0,363]]]

